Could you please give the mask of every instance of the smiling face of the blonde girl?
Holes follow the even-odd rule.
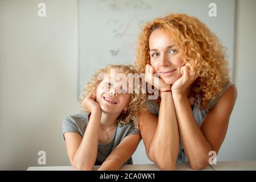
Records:
[[[116,75],[115,78],[117,78]],[[118,78],[117,80],[115,78],[111,80],[110,75],[106,75],[98,84],[96,102],[100,105],[102,111],[119,115],[123,110],[127,110],[131,95],[127,92],[128,86],[122,88],[122,79]],[[122,93],[120,93],[120,90]]]

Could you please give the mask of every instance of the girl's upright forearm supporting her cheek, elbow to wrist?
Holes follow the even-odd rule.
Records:
[[[97,158],[98,133],[101,113],[92,113],[82,142],[73,157],[73,166],[79,170],[91,170]]]

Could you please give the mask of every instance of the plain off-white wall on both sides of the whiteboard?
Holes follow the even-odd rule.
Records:
[[[255,7],[237,1],[238,98],[217,160],[256,160]],[[70,165],[61,122],[77,112],[77,35],[77,1],[0,1],[0,169],[38,166],[40,150],[47,166]]]

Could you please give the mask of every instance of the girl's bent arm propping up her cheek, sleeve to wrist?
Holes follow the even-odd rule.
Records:
[[[73,132],[64,134],[68,157],[76,170],[92,170],[98,151],[101,111],[90,115],[84,137]]]

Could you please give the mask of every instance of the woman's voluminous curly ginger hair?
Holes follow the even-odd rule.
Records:
[[[200,109],[207,109],[222,87],[230,81],[226,48],[204,23],[193,16],[170,14],[156,18],[144,24],[138,38],[135,65],[141,73],[144,73],[146,64],[150,64],[150,34],[158,28],[174,38],[189,71],[195,67],[199,77],[191,86],[190,96],[194,97],[195,101],[200,98]]]

